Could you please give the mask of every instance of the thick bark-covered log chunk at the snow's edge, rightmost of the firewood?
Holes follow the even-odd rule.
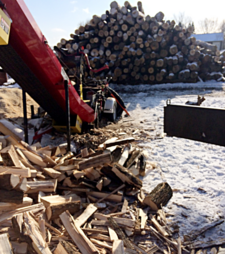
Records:
[[[143,200],[152,210],[157,211],[165,206],[173,196],[173,191],[168,183],[160,183]]]

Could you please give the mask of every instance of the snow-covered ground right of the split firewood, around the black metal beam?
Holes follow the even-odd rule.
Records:
[[[206,100],[202,106],[225,108],[225,83],[212,81],[114,88],[128,105],[133,123],[145,131],[152,127],[156,129],[149,131],[153,141],[140,143],[148,154],[148,160],[159,165],[147,172],[143,187],[151,191],[162,181],[169,183],[173,197],[165,211],[170,215],[170,223],[178,224],[180,235],[189,235],[224,218],[225,147],[176,137],[155,140],[154,137],[163,133],[163,107],[168,98],[172,104],[185,104],[188,100],[197,101],[197,95],[204,95]],[[204,242],[225,238],[225,223],[198,239],[201,237]]]

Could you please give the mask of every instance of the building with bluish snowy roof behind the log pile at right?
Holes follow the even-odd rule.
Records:
[[[211,33],[211,34],[192,34],[196,40],[211,43],[217,46],[218,50],[224,49],[224,36],[223,33]]]

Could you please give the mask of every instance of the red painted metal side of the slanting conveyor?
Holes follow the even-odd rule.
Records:
[[[61,64],[46,38],[39,29],[23,0],[1,0],[13,20],[10,32],[10,45],[29,66],[31,71],[45,86],[52,97],[65,110],[64,78]],[[34,87],[35,89],[35,87]],[[94,110],[84,103],[69,81],[70,111],[79,115],[85,122],[93,122]]]

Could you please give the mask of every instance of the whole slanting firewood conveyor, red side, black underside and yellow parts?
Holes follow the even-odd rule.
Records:
[[[98,112],[74,88],[23,0],[0,0],[0,66],[59,125],[68,122],[67,111],[77,132],[82,122],[95,121]],[[113,116],[115,105],[121,104],[116,101],[109,97],[104,103]]]

